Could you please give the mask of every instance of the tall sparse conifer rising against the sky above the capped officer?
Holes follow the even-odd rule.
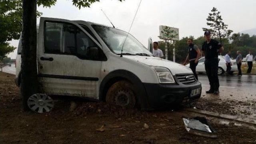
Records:
[[[232,30],[228,30],[228,25],[224,24],[220,12],[217,10],[217,8],[212,8],[211,13],[209,13],[209,16],[206,18],[206,20],[206,24],[210,26],[210,29],[202,29],[204,31],[210,31],[212,33],[212,37],[218,37],[220,39],[220,43],[222,43],[222,38],[228,38],[233,32]]]

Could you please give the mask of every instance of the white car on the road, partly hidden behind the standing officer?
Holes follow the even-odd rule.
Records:
[[[226,66],[226,60],[225,60],[225,56],[219,55],[219,67],[218,67],[218,75],[222,75],[223,73],[225,73],[227,66]],[[205,61],[205,57],[202,57],[198,60],[198,65],[196,66],[196,72],[198,73],[205,73],[205,67],[204,67],[204,61]],[[238,71],[237,65],[236,65],[236,60],[231,59],[231,73],[233,73],[234,71]],[[187,67],[189,67],[189,64],[186,65]]]

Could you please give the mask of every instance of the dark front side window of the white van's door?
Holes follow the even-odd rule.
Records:
[[[59,22],[46,22],[45,25],[45,53],[76,55],[81,59],[92,59],[89,54],[90,47],[98,46],[77,26]]]

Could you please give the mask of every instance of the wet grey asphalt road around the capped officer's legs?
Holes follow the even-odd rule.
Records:
[[[220,95],[209,95],[205,91],[210,89],[207,75],[198,75],[202,83],[202,96],[210,99],[230,99],[238,101],[256,100],[256,75],[220,75]]]

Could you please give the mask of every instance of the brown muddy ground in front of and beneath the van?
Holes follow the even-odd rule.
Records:
[[[252,144],[256,131],[211,121],[218,138],[188,134],[182,110],[142,112],[81,99],[57,99],[46,114],[22,111],[14,76],[0,73],[0,144]],[[56,99],[56,98],[55,98]],[[70,112],[70,100],[77,107]],[[199,107],[200,101],[195,103]],[[225,107],[223,107],[225,108]]]

